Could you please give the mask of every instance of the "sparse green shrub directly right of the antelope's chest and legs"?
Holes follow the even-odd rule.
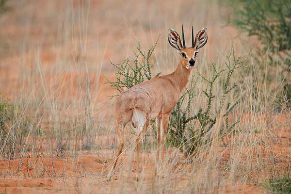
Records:
[[[237,121],[230,124],[228,116],[240,103],[240,100],[235,99],[233,103],[227,102],[226,108],[224,108],[224,104],[226,103],[227,97],[231,95],[231,91],[237,87],[236,84],[230,83],[233,73],[236,69],[242,67],[244,61],[241,61],[240,58],[235,58],[233,49],[227,59],[227,68],[221,71],[217,71],[216,65],[213,63],[211,64],[212,76],[210,79],[200,75],[200,78],[208,84],[208,89],[203,91],[203,94],[207,98],[207,107],[200,108],[198,113],[195,114],[191,112],[190,106],[195,96],[194,92],[198,80],[197,77],[195,80],[192,79],[190,87],[188,89],[186,88],[186,92],[179,98],[176,107],[171,113],[168,142],[171,145],[178,147],[184,153],[185,157],[195,154],[198,148],[203,144],[211,143],[211,130],[213,129],[219,115],[222,115],[225,121],[225,126],[220,129],[221,137],[232,131],[237,124]],[[224,76],[226,77],[225,80],[223,80]],[[218,95],[220,93],[219,91],[217,91],[217,94],[213,93],[213,85],[217,81],[222,81],[220,96]],[[186,99],[186,96],[186,109],[183,109],[182,103]],[[220,102],[218,110],[214,111],[215,114],[211,111],[213,109],[213,101]],[[197,122],[195,122],[195,120],[197,120]]]

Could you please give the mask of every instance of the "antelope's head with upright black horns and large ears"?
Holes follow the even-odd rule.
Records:
[[[206,28],[203,28],[199,31],[194,40],[194,33],[193,33],[193,26],[192,26],[192,47],[186,47],[185,44],[185,37],[184,37],[184,29],[182,26],[182,39],[183,39],[183,46],[181,43],[181,39],[179,34],[173,30],[169,29],[169,43],[172,47],[177,49],[181,55],[181,62],[183,67],[189,69],[194,67],[196,63],[196,57],[198,54],[198,50],[202,48],[207,43],[207,32]]]

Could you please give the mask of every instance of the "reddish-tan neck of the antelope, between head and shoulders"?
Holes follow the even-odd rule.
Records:
[[[189,77],[191,74],[191,69],[186,69],[183,67],[182,62],[180,61],[177,69],[172,73],[173,79],[180,92],[186,87]]]

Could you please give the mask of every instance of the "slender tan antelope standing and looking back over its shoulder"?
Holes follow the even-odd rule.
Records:
[[[183,45],[179,34],[169,29],[168,41],[172,47],[178,50],[180,62],[176,70],[170,74],[152,78],[151,80],[137,84],[122,93],[116,101],[116,132],[119,136],[119,146],[113,162],[113,168],[108,176],[111,179],[118,158],[125,142],[125,126],[131,122],[134,128],[138,128],[135,141],[136,171],[139,178],[140,165],[140,141],[144,136],[151,119],[156,120],[157,126],[157,155],[155,161],[155,175],[159,170],[159,163],[163,162],[165,155],[165,138],[169,123],[169,116],[174,109],[182,90],[189,81],[192,68],[195,66],[198,50],[207,43],[206,28],[196,34],[194,40],[192,27],[192,47],[186,48],[184,29],[182,26]]]

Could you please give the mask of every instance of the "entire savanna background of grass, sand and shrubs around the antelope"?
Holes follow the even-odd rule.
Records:
[[[0,0],[0,192],[290,193],[291,2],[190,4]],[[209,42],[171,113],[162,176],[152,121],[140,181],[128,126],[108,182],[116,97],[176,68],[167,32],[182,23]]]

